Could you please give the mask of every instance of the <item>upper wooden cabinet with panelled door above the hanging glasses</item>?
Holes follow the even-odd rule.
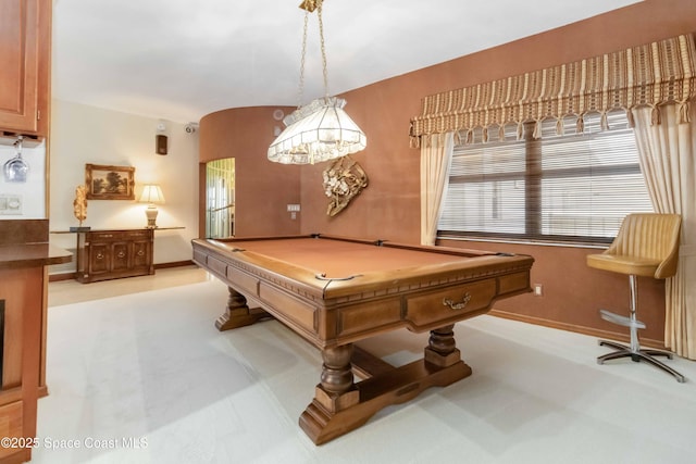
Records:
[[[49,130],[51,0],[0,0],[0,135]]]

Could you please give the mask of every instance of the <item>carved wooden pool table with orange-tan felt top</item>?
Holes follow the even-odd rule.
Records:
[[[217,329],[274,317],[322,351],[320,383],[299,419],[315,444],[426,388],[471,375],[456,348],[455,323],[530,291],[534,262],[320,234],[195,239],[192,248],[195,263],[229,288]],[[403,327],[430,331],[423,359],[391,366],[356,346]]]

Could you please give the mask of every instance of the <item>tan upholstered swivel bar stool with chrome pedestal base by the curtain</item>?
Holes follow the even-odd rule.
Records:
[[[611,246],[601,254],[587,255],[587,265],[598,269],[629,275],[630,306],[629,316],[600,310],[605,321],[626,326],[631,330],[631,346],[613,341],[599,340],[599,344],[617,349],[597,358],[598,364],[605,361],[631,356],[634,362],[646,361],[672,374],[683,383],[684,376],[652,356],[667,356],[672,353],[659,350],[642,350],[638,342],[638,329],[645,324],[636,318],[637,277],[663,279],[676,274],[679,258],[679,238],[682,218],[679,214],[629,214]]]

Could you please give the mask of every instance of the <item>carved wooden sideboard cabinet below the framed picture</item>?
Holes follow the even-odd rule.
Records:
[[[75,278],[88,284],[154,274],[151,228],[77,233]]]

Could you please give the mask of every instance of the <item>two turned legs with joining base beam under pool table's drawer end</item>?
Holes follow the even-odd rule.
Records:
[[[388,405],[470,376],[471,367],[460,359],[452,329],[449,325],[432,330],[422,360],[391,369],[382,366],[378,374],[357,384],[351,373],[352,344],[324,349],[321,383],[300,416],[300,427],[315,444],[322,444],[362,426]],[[360,358],[364,355],[361,352]]]

